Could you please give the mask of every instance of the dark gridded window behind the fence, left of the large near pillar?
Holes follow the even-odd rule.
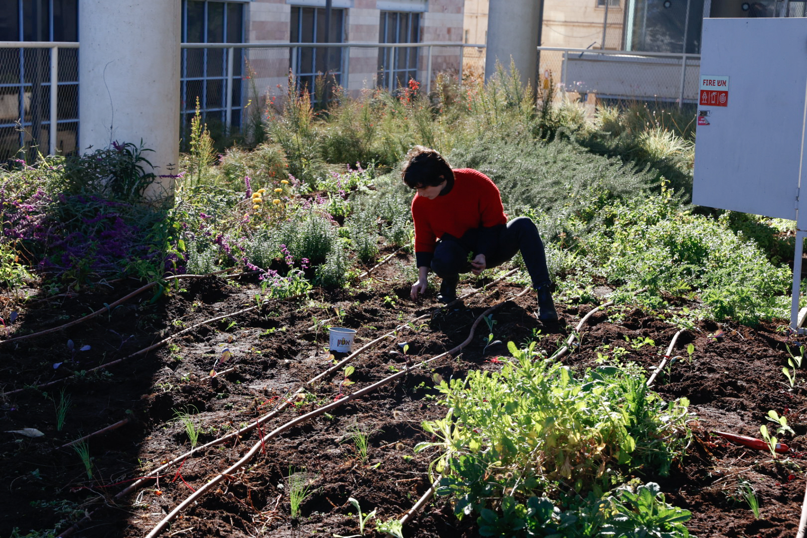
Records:
[[[0,41],[78,41],[78,0],[0,0]],[[78,49],[58,55],[56,148],[68,153],[78,140]],[[48,48],[0,48],[0,161],[24,146],[48,151],[50,62]]]

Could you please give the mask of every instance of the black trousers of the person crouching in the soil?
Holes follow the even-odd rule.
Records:
[[[473,253],[473,259],[479,252],[479,236],[483,232],[472,229],[460,238],[444,234],[434,248],[432,270],[446,282],[458,281],[459,273],[469,273],[473,267],[468,261],[468,255]],[[490,252],[487,252],[487,268],[502,265],[512,259],[516,252],[521,250],[521,257],[527,266],[533,287],[548,286],[550,273],[546,269],[546,253],[538,229],[529,217],[518,217],[507,224],[495,229],[495,241]]]

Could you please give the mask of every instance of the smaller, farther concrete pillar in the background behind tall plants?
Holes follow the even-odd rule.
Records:
[[[510,57],[521,81],[535,86],[538,27],[542,0],[491,0],[487,14],[485,79],[495,73],[496,60],[509,69]]]

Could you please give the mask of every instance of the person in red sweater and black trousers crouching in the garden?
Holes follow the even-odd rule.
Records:
[[[528,217],[508,222],[499,189],[474,169],[452,170],[440,153],[415,146],[407,153],[403,182],[417,190],[412,198],[418,279],[412,300],[427,289],[429,269],[441,277],[437,300],[457,298],[460,273],[482,273],[521,250],[533,288],[538,319],[557,321],[546,254],[535,223]]]

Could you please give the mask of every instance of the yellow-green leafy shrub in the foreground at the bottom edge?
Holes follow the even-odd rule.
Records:
[[[625,507],[629,495],[617,492],[603,502],[602,492],[645,466],[664,476],[683,453],[688,401],[664,402],[635,365],[575,377],[534,345],[508,344],[514,358],[500,372],[441,382],[448,415],[424,423],[438,440],[416,451],[441,448],[436,470],[445,476],[437,494],[453,498],[458,517],[475,511],[482,536],[550,536],[561,528],[562,536],[599,536],[600,527],[617,525],[622,516],[608,510],[597,519],[600,507],[613,503],[616,512],[632,511]],[[663,503],[657,486],[642,487],[651,504]],[[569,509],[575,517],[562,515]],[[648,530],[667,530],[666,523],[648,519]]]

